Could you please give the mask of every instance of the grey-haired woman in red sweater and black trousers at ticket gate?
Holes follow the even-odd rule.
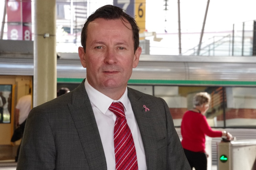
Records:
[[[233,137],[226,131],[214,131],[208,125],[205,113],[209,109],[211,96],[206,92],[197,93],[193,98],[192,110],[186,111],[181,121],[181,144],[191,169],[206,170],[207,154],[205,152],[205,135],[209,137]]]

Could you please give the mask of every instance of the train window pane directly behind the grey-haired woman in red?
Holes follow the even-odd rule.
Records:
[[[211,103],[206,113],[211,127],[223,127],[223,113],[225,93],[223,87],[202,86],[154,86],[154,95],[163,98],[170,108],[173,122],[176,127],[181,125],[183,114],[193,108],[193,97],[198,92],[207,92],[211,95]]]

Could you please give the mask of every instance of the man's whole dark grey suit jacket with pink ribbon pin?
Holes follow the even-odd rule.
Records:
[[[143,140],[147,169],[189,170],[165,101],[131,88],[128,97]],[[84,81],[70,93],[31,110],[17,169],[107,169]]]

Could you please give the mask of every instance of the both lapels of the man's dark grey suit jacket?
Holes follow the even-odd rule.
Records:
[[[84,88],[83,82],[73,90],[72,104],[69,104],[71,116],[83,145],[86,160],[91,170],[107,169],[107,163],[103,146],[101,143],[99,130],[91,107],[90,100]],[[143,105],[149,106],[147,99],[132,92],[128,88],[128,97],[132,105],[132,110],[137,120],[143,146],[146,154],[147,169],[156,169],[157,162],[157,144],[154,138],[155,129],[151,127],[154,124],[151,111],[145,111]],[[148,104],[148,105],[147,105]]]

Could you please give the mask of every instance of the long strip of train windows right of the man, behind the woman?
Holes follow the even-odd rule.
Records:
[[[180,127],[183,114],[193,108],[198,92],[211,95],[206,118],[211,127],[256,127],[256,88],[223,86],[128,85],[143,93],[163,98],[170,108],[175,127]]]

